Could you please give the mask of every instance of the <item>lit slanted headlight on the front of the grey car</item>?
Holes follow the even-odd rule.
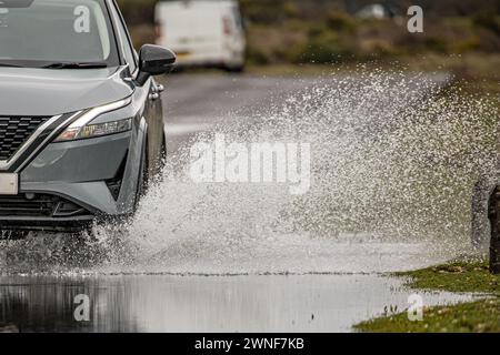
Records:
[[[68,125],[68,128],[61,134],[59,134],[54,142],[84,140],[89,138],[97,138],[130,131],[132,129],[132,119],[93,124],[92,121],[101,114],[126,108],[131,102],[132,99],[128,98],[88,110],[74,122]]]

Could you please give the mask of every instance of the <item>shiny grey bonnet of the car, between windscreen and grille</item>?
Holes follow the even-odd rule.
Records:
[[[123,68],[0,68],[0,116],[57,115],[132,94]]]

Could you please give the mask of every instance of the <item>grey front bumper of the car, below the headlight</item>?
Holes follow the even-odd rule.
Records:
[[[0,195],[0,230],[77,232],[133,211],[142,144],[137,130],[51,143],[20,172],[16,196]]]

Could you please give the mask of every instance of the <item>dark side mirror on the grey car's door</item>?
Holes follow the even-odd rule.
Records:
[[[170,72],[176,63],[176,53],[171,50],[153,44],[144,44],[139,51],[139,74],[137,82],[143,85],[151,75]]]

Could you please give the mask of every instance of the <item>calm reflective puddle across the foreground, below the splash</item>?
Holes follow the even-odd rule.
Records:
[[[404,310],[401,280],[376,275],[0,278],[0,324],[21,332],[347,332],[353,323]],[[90,297],[77,322],[74,296]],[[426,305],[471,296],[423,294]],[[271,302],[272,300],[272,302]]]

